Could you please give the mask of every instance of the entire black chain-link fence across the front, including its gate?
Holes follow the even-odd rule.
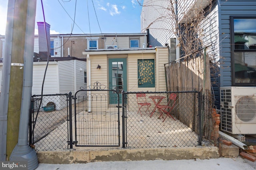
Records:
[[[210,143],[204,136],[204,119],[210,121],[210,117],[202,116],[200,92],[123,92],[122,101],[118,95],[115,90],[91,89],[79,90],[74,96],[71,92],[32,96],[30,145],[37,151],[72,145],[118,147],[120,137],[124,148]]]

